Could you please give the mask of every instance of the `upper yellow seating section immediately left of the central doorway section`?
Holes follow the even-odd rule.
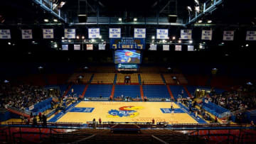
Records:
[[[114,73],[95,73],[91,84],[113,84]]]

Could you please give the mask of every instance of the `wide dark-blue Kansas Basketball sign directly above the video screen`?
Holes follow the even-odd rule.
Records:
[[[145,39],[144,38],[110,38],[110,48],[142,50],[145,48]]]

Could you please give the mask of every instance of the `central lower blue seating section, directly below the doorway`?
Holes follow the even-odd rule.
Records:
[[[141,97],[139,85],[116,85],[114,89],[114,97],[124,95],[124,97],[132,97],[137,98],[139,96],[139,99]]]

